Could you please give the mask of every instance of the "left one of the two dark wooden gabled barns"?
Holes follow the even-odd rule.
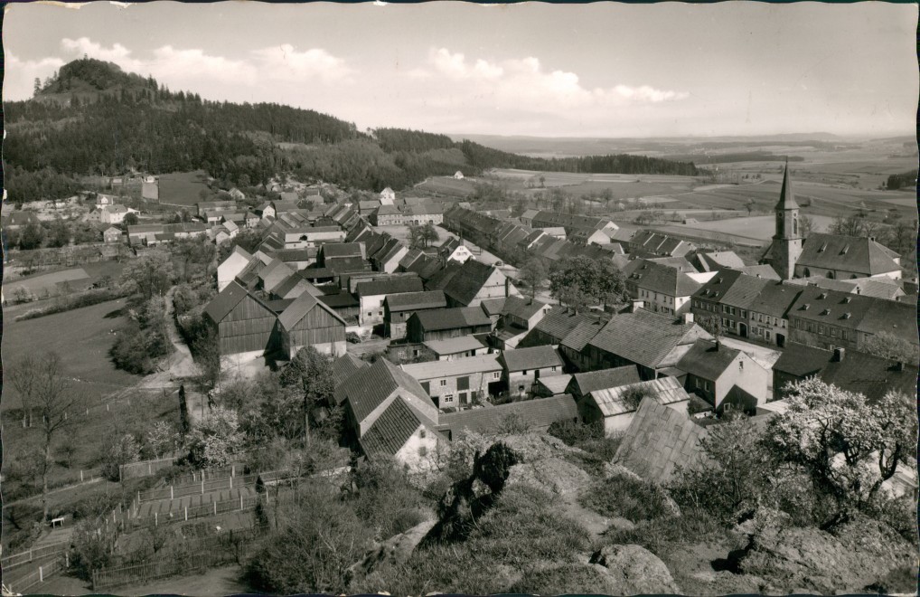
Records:
[[[236,361],[260,357],[275,347],[277,313],[236,281],[204,309],[217,332],[222,357]]]

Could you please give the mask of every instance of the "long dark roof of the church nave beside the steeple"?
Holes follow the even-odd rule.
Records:
[[[802,242],[796,264],[877,275],[899,271],[897,256],[875,240],[813,232]]]

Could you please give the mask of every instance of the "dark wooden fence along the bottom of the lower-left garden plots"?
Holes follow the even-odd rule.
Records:
[[[144,564],[95,570],[93,591],[165,579],[237,562],[260,535],[261,530],[258,528],[219,533],[190,541],[181,545],[177,553],[157,557]]]

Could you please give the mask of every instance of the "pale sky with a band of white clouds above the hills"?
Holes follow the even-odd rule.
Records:
[[[915,4],[7,5],[4,97],[84,54],[447,134],[913,135]]]

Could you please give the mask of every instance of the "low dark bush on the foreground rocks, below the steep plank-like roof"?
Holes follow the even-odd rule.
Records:
[[[667,501],[661,487],[627,475],[608,477],[579,497],[579,503],[585,508],[633,522],[668,516]]]

